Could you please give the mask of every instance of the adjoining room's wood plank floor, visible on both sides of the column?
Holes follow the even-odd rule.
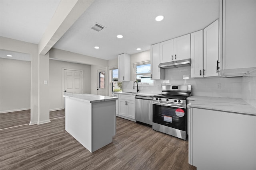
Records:
[[[50,119],[55,119],[63,116],[65,116],[64,109],[57,110],[57,111],[50,111]],[[25,125],[25,124],[29,124],[29,122],[30,122],[30,110],[14,111],[14,112],[0,114],[0,129]]]

